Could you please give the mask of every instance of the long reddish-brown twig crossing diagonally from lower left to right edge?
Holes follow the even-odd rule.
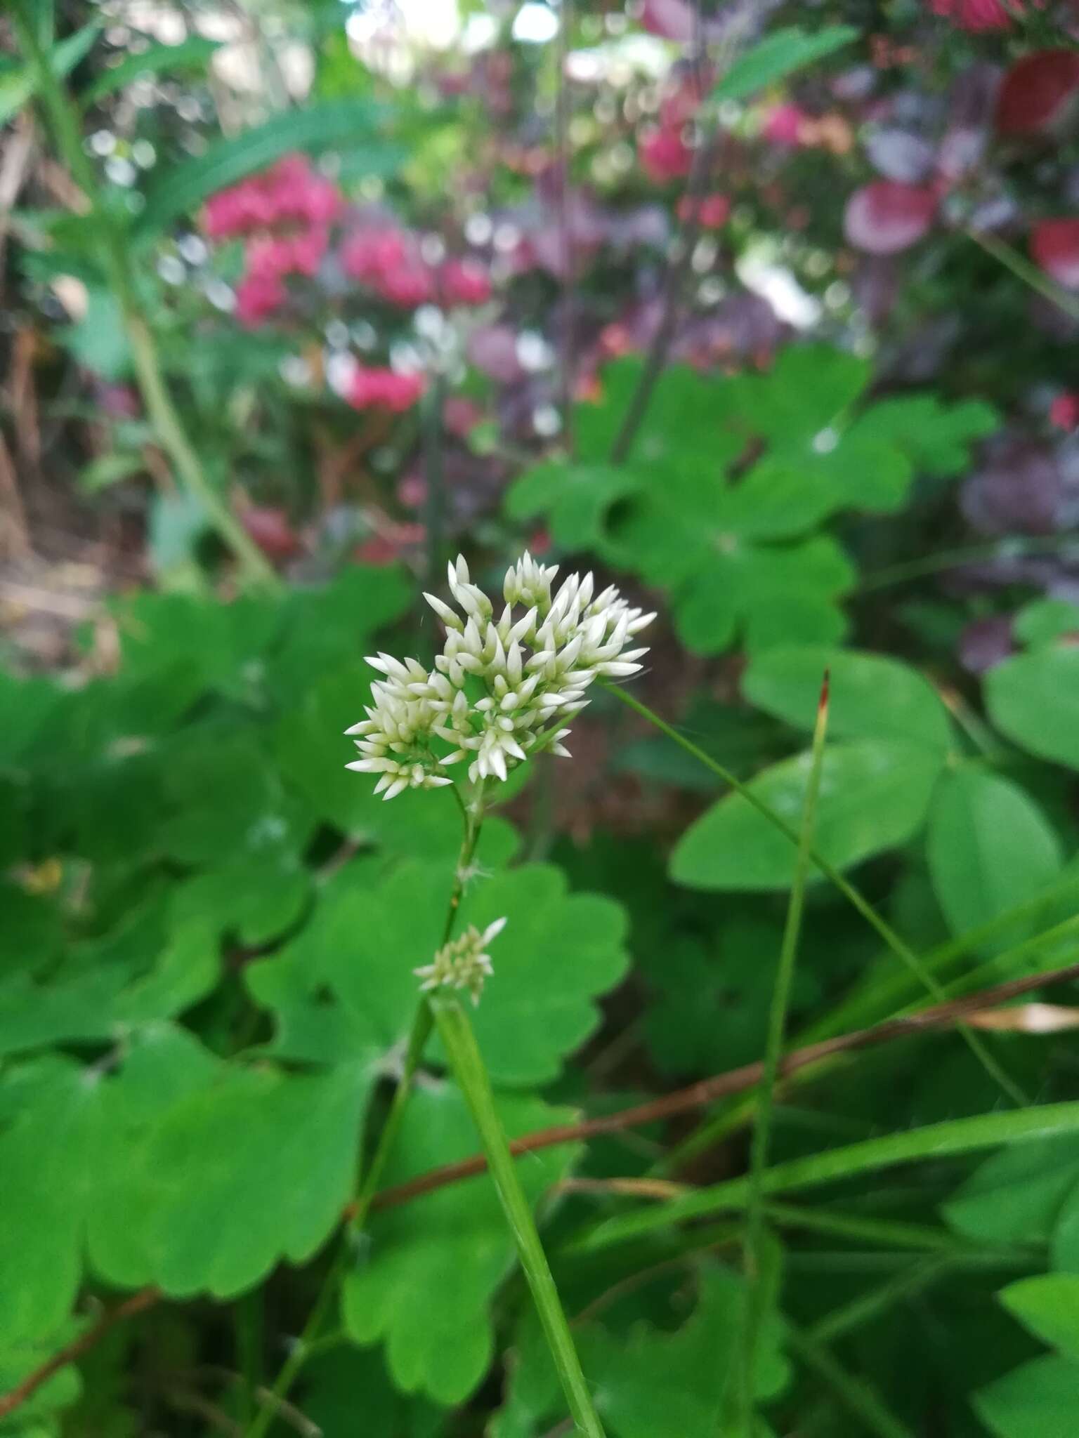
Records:
[[[1000,1004],[1020,998],[1023,994],[1030,994],[1033,989],[1066,984],[1072,979],[1079,979],[1079,963],[1069,963],[1066,968],[1052,969],[1049,974],[1030,974],[1021,979],[997,984],[994,988],[983,989],[978,994],[967,994],[962,998],[948,999],[945,1004],[937,1004],[934,1008],[922,1009],[919,1014],[889,1018],[873,1028],[860,1028],[852,1034],[827,1038],[820,1044],[809,1044],[806,1048],[796,1048],[787,1054],[780,1064],[780,1074],[793,1074],[809,1064],[820,1063],[823,1058],[870,1048],[892,1038],[905,1038],[928,1030],[944,1028],[968,1014],[997,1008]],[[600,1119],[586,1119],[583,1123],[560,1123],[550,1129],[538,1129],[535,1133],[524,1133],[519,1139],[511,1142],[509,1149],[514,1156],[519,1156],[521,1153],[535,1153],[538,1149],[555,1148],[561,1143],[580,1143],[583,1139],[619,1133],[623,1129],[633,1129],[645,1123],[657,1123],[678,1113],[714,1103],[716,1099],[725,1099],[752,1089],[761,1080],[762,1067],[760,1063],[744,1064],[741,1068],[716,1074],[714,1078],[704,1078],[701,1083],[691,1084],[688,1089],[679,1089],[676,1093],[665,1094],[662,1099],[653,1099],[632,1109],[622,1109],[619,1113],[609,1113]],[[414,1198],[422,1198],[424,1194],[433,1194],[439,1188],[446,1188],[449,1183],[459,1183],[462,1179],[475,1178],[485,1168],[486,1159],[482,1155],[462,1159],[457,1163],[446,1163],[443,1168],[420,1173],[407,1183],[397,1183],[394,1188],[383,1189],[375,1195],[371,1206],[396,1208]],[[354,1204],[345,1206],[341,1215],[344,1222],[352,1218],[354,1209]],[[46,1363],[42,1363],[33,1373],[29,1373],[22,1383],[9,1393],[0,1395],[0,1418],[13,1412],[20,1403],[24,1403],[32,1393],[37,1392],[42,1383],[47,1382],[66,1363],[75,1362],[75,1359],[94,1347],[114,1324],[135,1313],[142,1313],[145,1309],[151,1309],[160,1300],[161,1294],[157,1288],[142,1288],[129,1299],[125,1299],[124,1303],[117,1304],[94,1327],[88,1329],[73,1343],[60,1349],[59,1353],[53,1355]]]

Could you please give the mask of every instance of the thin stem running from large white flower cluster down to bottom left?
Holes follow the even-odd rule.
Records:
[[[456,923],[460,897],[465,892],[465,883],[468,881],[469,866],[475,857],[479,833],[483,827],[483,779],[473,787],[468,802],[462,800],[456,785],[453,785],[452,792],[460,805],[465,834],[457,854],[457,864],[453,870],[453,887],[450,889],[449,905],[446,906],[446,923],[442,929],[443,943],[447,943],[453,935],[453,925]],[[350,1255],[350,1237],[351,1234],[363,1231],[367,1217],[371,1212],[371,1202],[378,1191],[378,1183],[386,1169],[386,1163],[390,1158],[394,1142],[397,1140],[401,1119],[404,1117],[404,1109],[411,1097],[416,1073],[420,1067],[423,1050],[430,1038],[433,1027],[434,1015],[432,1014],[432,1005],[426,998],[423,998],[416,1008],[416,1015],[413,1017],[411,1028],[409,1030],[404,1061],[401,1063],[401,1074],[397,1080],[393,1099],[390,1100],[386,1122],[383,1123],[378,1135],[374,1153],[371,1155],[371,1159],[364,1171],[360,1192],[357,1194],[351,1208],[345,1241],[341,1245],[337,1258],[331,1264],[322,1287],[319,1288],[318,1297],[315,1299],[314,1307],[308,1316],[308,1322],[304,1326],[304,1332],[293,1345],[288,1359],[281,1366],[281,1370],[273,1382],[273,1388],[262,1401],[259,1414],[255,1416],[252,1425],[245,1431],[245,1438],[263,1438],[266,1429],[273,1421],[278,1402],[289,1393],[289,1389],[299,1376],[299,1370],[304,1368],[314,1350],[318,1332],[329,1313],[329,1304],[337,1296],[341,1278],[345,1274],[347,1260]]]

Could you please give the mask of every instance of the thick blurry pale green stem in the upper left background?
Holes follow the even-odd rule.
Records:
[[[168,393],[154,336],[142,318],[131,283],[131,260],[124,234],[105,209],[96,173],[82,148],[78,109],[42,49],[27,0],[13,0],[12,24],[27,65],[35,73],[36,89],[49,115],[56,148],[91,206],[89,221],[96,227],[101,240],[99,259],[124,318],[135,378],[161,447],[171,459],[181,483],[199,499],[222,541],[236,555],[247,580],[276,585],[279,580],[273,567],[206,475]]]

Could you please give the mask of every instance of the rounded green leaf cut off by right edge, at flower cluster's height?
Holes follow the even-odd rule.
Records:
[[[1079,649],[1055,644],[985,674],[993,723],[1030,754],[1079,769]]]

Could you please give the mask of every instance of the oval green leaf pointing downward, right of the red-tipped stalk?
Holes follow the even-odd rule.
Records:
[[[945,774],[937,787],[927,854],[954,935],[1033,899],[1063,869],[1060,841],[1024,789],[970,765]],[[1021,942],[1036,922],[1007,929],[991,951]]]

